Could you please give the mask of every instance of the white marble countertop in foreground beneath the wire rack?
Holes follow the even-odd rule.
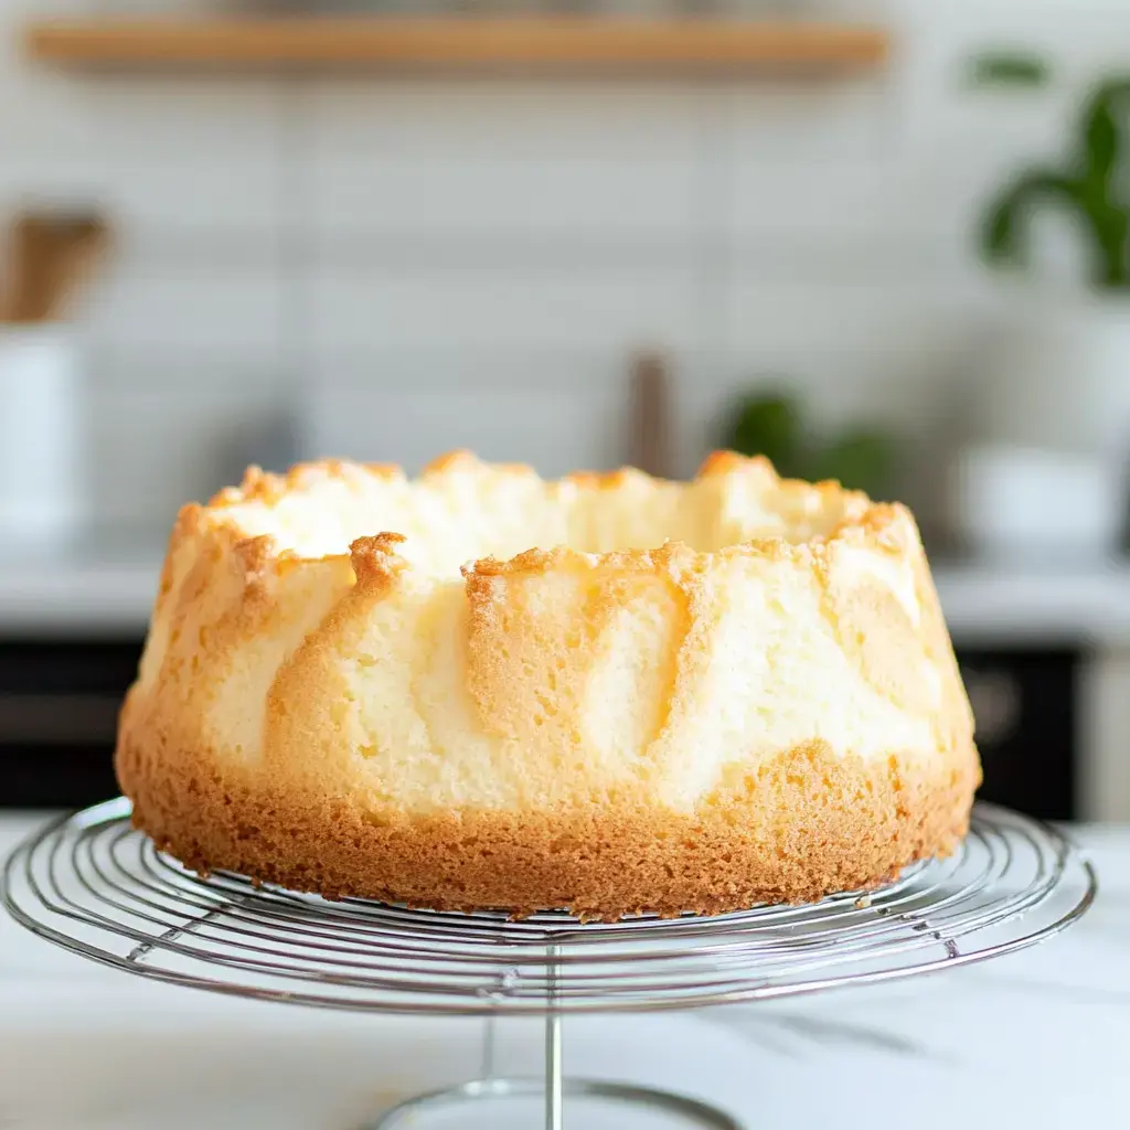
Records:
[[[0,854],[29,826],[0,818]],[[750,1130],[1130,1124],[1130,829],[1077,838],[1102,893],[1060,938],[883,988],[568,1018],[566,1071],[699,1095]],[[153,984],[0,920],[6,1130],[346,1130],[397,1096],[475,1075],[481,1033],[478,1020],[315,1012]],[[505,1069],[537,1072],[540,1046],[536,1022],[502,1023]],[[623,1111],[590,1121],[588,1110],[583,1124],[657,1125]]]

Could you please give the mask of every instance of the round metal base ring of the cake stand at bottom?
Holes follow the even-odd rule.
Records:
[[[606,1083],[602,1079],[566,1079],[563,1089],[570,1098],[626,1103],[668,1118],[676,1115],[688,1125],[703,1127],[705,1130],[747,1130],[741,1122],[732,1119],[725,1111],[707,1103],[701,1103],[696,1098],[675,1095],[669,1090],[657,1090],[652,1087],[640,1087],[627,1083]],[[540,1079],[475,1079],[471,1083],[444,1087],[442,1090],[433,1090],[426,1095],[409,1098],[359,1130],[407,1130],[408,1127],[412,1127],[414,1130],[415,1128],[426,1130],[427,1123],[420,1123],[418,1120],[428,1114],[437,1114],[441,1110],[450,1111],[453,1106],[470,1106],[480,1101],[505,1102],[510,1098],[540,1098],[544,1094],[545,1084]]]

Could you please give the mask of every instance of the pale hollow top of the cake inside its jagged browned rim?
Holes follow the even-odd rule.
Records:
[[[251,468],[205,512],[211,523],[245,538],[269,536],[277,553],[307,559],[393,534],[398,556],[442,576],[533,548],[609,554],[678,542],[709,554],[820,542],[872,508],[838,484],[782,479],[767,460],[731,452],[712,454],[690,481],[632,468],[546,480],[529,467],[453,452],[415,479],[399,467],[342,461],[303,463],[285,476]]]

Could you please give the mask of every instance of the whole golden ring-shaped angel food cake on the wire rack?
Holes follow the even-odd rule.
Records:
[[[981,776],[910,512],[730,453],[249,471],[181,511],[116,768],[195,869],[603,919],[883,883]]]

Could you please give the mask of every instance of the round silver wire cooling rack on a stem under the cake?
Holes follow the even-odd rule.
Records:
[[[948,860],[869,894],[713,918],[522,921],[362,899],[327,902],[226,872],[202,878],[130,827],[125,799],[47,825],[11,854],[3,902],[66,949],[158,981],[287,1003],[381,1012],[546,1017],[546,1079],[494,1075],[412,1099],[373,1127],[452,1102],[545,1095],[559,1130],[564,1094],[661,1107],[740,1130],[695,1099],[563,1080],[568,1012],[759,1000],[954,968],[1033,945],[1094,902],[1092,864],[1054,828],[979,805]],[[414,1125],[417,1124],[414,1122]]]

